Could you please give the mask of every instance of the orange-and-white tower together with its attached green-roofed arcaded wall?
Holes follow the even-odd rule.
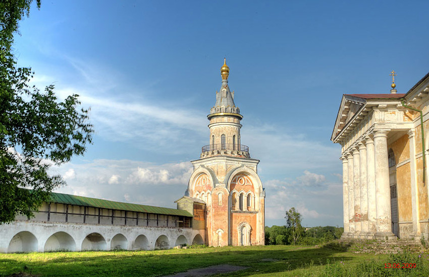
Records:
[[[177,209],[51,193],[35,217],[17,215],[0,225],[0,252],[153,250],[183,244],[263,245],[265,192],[258,160],[241,145],[229,67],[207,116],[210,144],[200,159]]]

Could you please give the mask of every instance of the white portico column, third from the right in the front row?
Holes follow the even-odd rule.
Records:
[[[366,185],[366,146],[363,143],[359,147],[359,165],[360,165],[360,215],[362,235],[366,238],[368,233],[368,188]]]

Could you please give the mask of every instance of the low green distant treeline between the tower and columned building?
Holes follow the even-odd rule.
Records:
[[[339,239],[343,234],[343,227],[317,226],[312,228],[301,227],[302,234],[298,239],[293,237],[293,230],[287,226],[265,226],[265,245],[315,245]]]

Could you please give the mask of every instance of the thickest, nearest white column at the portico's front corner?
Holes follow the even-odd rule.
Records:
[[[390,207],[389,163],[387,154],[387,131],[374,131],[376,151],[376,202],[377,233],[381,239],[394,236],[392,233],[392,211]]]

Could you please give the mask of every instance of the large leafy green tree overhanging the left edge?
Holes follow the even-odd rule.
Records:
[[[61,176],[48,174],[50,166],[83,155],[92,142],[88,110],[78,108],[78,95],[61,102],[53,85],[42,92],[30,87],[31,68],[17,67],[14,34],[31,3],[0,1],[0,224],[17,213],[33,216],[49,191],[63,183]],[[36,4],[40,8],[40,0]]]

